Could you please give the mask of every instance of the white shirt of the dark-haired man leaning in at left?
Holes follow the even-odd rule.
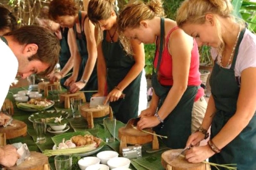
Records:
[[[18,72],[18,60],[12,50],[0,39],[0,109]]]

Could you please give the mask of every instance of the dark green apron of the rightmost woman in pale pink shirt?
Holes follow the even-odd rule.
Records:
[[[244,32],[245,29],[240,33],[230,69],[220,67],[215,63],[212,70],[210,86],[217,111],[212,121],[211,138],[221,131],[236,112],[240,87],[236,83],[234,68]],[[249,124],[234,140],[209,160],[218,164],[236,163],[238,170],[256,169],[256,116],[252,117]],[[212,169],[215,168],[212,167]]]

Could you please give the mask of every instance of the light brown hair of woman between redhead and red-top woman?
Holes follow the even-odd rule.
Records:
[[[102,41],[103,35],[99,20],[110,18],[112,10],[116,11],[115,0],[90,0],[88,4],[88,18],[96,26],[96,42]]]

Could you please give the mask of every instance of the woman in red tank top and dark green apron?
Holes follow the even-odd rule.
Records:
[[[184,148],[191,134],[194,101],[200,103],[204,95],[200,87],[199,53],[193,38],[179,29],[175,21],[160,16],[161,1],[136,2],[120,12],[118,25],[127,38],[157,44],[152,101],[141,112],[137,127],[154,127],[157,134],[167,137],[162,138],[166,146]],[[203,117],[204,113],[201,120]]]

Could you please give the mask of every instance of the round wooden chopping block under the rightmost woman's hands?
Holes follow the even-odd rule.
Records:
[[[171,149],[162,154],[162,165],[165,169],[175,170],[208,170],[205,163],[189,163],[184,157],[177,156],[182,149]]]

